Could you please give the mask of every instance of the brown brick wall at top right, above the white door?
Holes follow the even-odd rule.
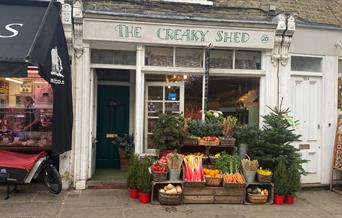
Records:
[[[342,0],[212,0],[218,7],[260,8],[292,12],[306,21],[342,26]]]

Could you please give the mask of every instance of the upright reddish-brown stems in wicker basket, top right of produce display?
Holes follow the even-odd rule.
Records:
[[[233,146],[236,139],[233,137],[237,125],[237,118],[228,116],[223,119],[223,136],[220,137],[220,144],[223,146]]]

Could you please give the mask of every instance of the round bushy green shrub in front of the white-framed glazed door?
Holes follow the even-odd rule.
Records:
[[[185,136],[184,117],[161,114],[153,130],[153,146],[159,150],[178,148]]]

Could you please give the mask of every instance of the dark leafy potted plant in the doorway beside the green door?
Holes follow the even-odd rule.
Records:
[[[123,134],[114,138],[113,143],[118,146],[120,166],[122,170],[128,169],[128,159],[134,151],[134,135]]]

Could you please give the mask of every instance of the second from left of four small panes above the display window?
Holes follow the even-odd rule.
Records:
[[[176,67],[203,67],[203,49],[176,48]]]

